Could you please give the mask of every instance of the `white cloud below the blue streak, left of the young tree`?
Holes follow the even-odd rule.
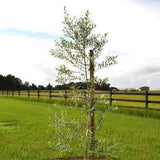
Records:
[[[56,61],[49,54],[52,40],[37,40],[17,36],[1,36],[0,39],[0,73],[13,74],[23,81],[47,84],[48,77],[55,76]],[[50,75],[39,64],[45,64],[53,70]],[[50,70],[51,70],[50,69]],[[51,81],[53,84],[54,81]]]

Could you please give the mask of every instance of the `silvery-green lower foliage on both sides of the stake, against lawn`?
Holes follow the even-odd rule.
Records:
[[[108,106],[108,104],[106,103]],[[88,154],[92,154],[92,150],[95,149],[96,156],[98,157],[116,157],[119,154],[117,149],[117,141],[113,140],[106,143],[105,139],[98,138],[91,142],[91,137],[86,139],[85,136],[86,126],[87,126],[87,114],[85,110],[81,110],[81,117],[71,118],[69,117],[69,109],[64,106],[60,107],[54,105],[59,112],[54,112],[50,109],[50,127],[53,129],[52,136],[55,138],[48,142],[48,145],[62,153],[63,155],[72,156],[75,153],[80,153],[84,150],[86,145],[89,147]],[[107,110],[98,115],[98,121],[96,129],[101,128],[101,124],[104,120],[106,113],[117,109],[116,107],[108,106]],[[92,111],[90,111],[92,113]],[[90,132],[90,131],[89,131]],[[76,146],[75,146],[76,142]],[[73,147],[74,146],[74,147]]]

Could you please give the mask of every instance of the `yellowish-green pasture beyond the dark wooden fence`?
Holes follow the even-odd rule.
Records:
[[[68,90],[22,90],[22,91],[0,91],[0,95],[8,95],[15,97],[28,97],[28,98],[38,98],[53,101],[71,100],[75,97],[84,100],[86,97],[86,92],[83,90],[76,91]],[[78,94],[77,94],[78,93]],[[149,91],[147,93],[144,91],[136,92],[112,92],[109,91],[95,91],[95,98],[98,101],[112,101],[113,105],[127,106],[127,107],[139,107],[145,108],[147,103],[147,108],[160,109],[160,91]],[[152,95],[153,94],[153,95]],[[125,101],[123,101],[125,100]],[[137,101],[137,102],[136,102]],[[141,101],[141,102],[140,102]],[[154,103],[150,103],[154,102]]]

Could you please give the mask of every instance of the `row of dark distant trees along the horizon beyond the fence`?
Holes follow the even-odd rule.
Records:
[[[7,76],[0,75],[0,90],[66,90],[71,87],[78,89],[87,89],[87,85],[84,82],[70,82],[68,84],[56,85],[53,87],[50,83],[47,86],[35,85],[34,83],[29,84],[29,82],[22,82],[20,78],[15,77],[14,75],[8,74]],[[110,87],[110,84],[107,81],[95,83],[96,90],[110,90],[113,87]]]

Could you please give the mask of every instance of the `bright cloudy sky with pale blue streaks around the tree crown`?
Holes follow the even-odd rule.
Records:
[[[118,55],[118,64],[97,75],[112,86],[160,89],[160,0],[0,0],[0,74],[23,82],[56,85],[51,56],[63,36],[63,8],[73,16],[86,10],[97,33],[108,33],[103,55]]]

